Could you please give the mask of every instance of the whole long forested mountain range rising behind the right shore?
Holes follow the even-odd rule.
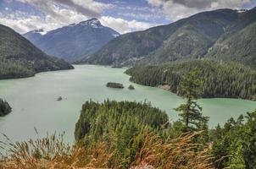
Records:
[[[256,8],[203,12],[120,35],[80,63],[131,66],[203,57],[256,67]]]

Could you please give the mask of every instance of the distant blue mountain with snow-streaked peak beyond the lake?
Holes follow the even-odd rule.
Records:
[[[32,30],[24,36],[47,54],[74,62],[96,52],[118,35],[98,19],[89,19],[48,32]]]

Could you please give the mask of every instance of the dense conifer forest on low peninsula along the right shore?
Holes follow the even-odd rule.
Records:
[[[193,60],[161,66],[130,68],[125,73],[131,81],[148,86],[169,85],[170,91],[181,92],[181,76],[198,68],[203,79],[200,96],[256,100],[256,71],[239,63]]]

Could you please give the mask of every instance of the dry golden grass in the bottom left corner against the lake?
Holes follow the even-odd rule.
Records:
[[[53,134],[43,139],[21,143],[3,143],[2,149],[8,155],[2,155],[4,169],[73,169],[107,168],[114,152],[102,142],[86,148],[64,144],[64,134]],[[0,158],[1,159],[1,158]],[[1,164],[1,161],[0,161]],[[1,168],[1,165],[0,165]]]

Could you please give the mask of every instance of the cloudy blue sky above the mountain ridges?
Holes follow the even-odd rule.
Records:
[[[218,8],[253,8],[256,0],[0,0],[0,24],[20,34],[97,18],[125,34]]]

